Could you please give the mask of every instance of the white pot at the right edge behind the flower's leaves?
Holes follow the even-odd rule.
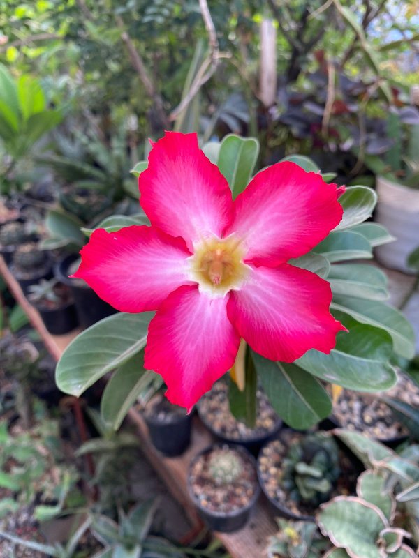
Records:
[[[386,267],[404,273],[415,273],[406,259],[419,246],[419,188],[408,188],[377,176],[377,223],[383,225],[396,240],[376,248],[376,255]]]

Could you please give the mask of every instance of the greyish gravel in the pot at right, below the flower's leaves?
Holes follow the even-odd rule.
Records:
[[[358,393],[344,389],[333,406],[332,420],[342,428],[358,430],[379,440],[391,440],[408,435],[392,410],[380,397],[398,399],[419,408],[419,386],[409,376],[400,372],[397,384],[382,393]]]

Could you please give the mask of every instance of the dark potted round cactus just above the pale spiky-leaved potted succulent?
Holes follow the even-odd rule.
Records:
[[[30,285],[52,277],[52,262],[47,252],[39,250],[36,243],[27,242],[19,246],[13,254],[10,271],[19,282],[24,294],[28,294]]]

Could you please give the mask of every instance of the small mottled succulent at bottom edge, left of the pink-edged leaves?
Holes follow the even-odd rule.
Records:
[[[268,558],[320,558],[328,548],[315,523],[277,518],[278,533],[270,537]]]

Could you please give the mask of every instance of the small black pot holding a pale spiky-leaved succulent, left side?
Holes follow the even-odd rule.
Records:
[[[53,335],[64,335],[78,326],[71,291],[57,279],[41,279],[28,287],[28,299],[38,310],[45,327]]]

